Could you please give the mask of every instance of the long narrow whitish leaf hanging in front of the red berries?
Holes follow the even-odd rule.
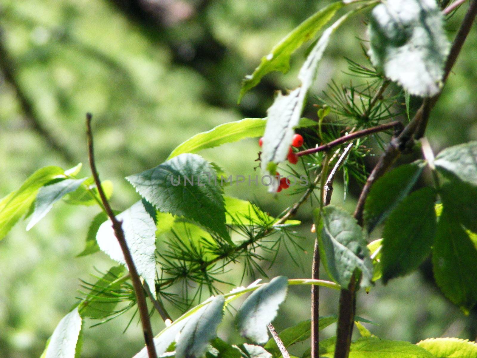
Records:
[[[343,15],[323,32],[320,40],[313,47],[300,69],[298,79],[301,81],[301,86],[291,91],[288,95],[279,93],[273,105],[268,109],[268,120],[265,134],[263,135],[261,155],[261,168],[263,171],[274,175],[276,165],[287,158],[291,140],[295,133],[294,128],[299,124],[306,94],[316,76],[318,63],[328,46],[330,36],[354,12],[350,11]],[[273,184],[269,187],[269,192],[275,192],[277,188],[278,180],[273,180]]]

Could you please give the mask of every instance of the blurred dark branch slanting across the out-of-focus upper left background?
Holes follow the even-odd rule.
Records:
[[[12,65],[12,61],[8,55],[3,41],[3,34],[0,29],[0,72],[7,83],[11,85],[17,96],[21,110],[23,112],[23,118],[25,122],[33,129],[40,137],[50,146],[55,152],[60,154],[64,160],[68,163],[74,161],[74,155],[70,150],[64,146],[50,131],[43,126],[38,119],[38,115],[35,111],[34,105],[30,98],[23,91],[20,82],[17,79],[15,68]]]

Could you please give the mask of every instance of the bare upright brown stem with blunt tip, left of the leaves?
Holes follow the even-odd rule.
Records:
[[[153,333],[151,327],[151,320],[149,319],[149,312],[147,310],[147,304],[145,300],[143,286],[141,284],[141,279],[139,278],[139,274],[137,273],[136,266],[133,261],[133,257],[131,256],[131,252],[127,247],[127,242],[124,237],[124,231],[121,226],[121,222],[116,219],[111,206],[104,194],[104,190],[101,187],[101,181],[99,179],[98,171],[96,170],[96,164],[94,162],[94,151],[93,151],[93,134],[91,132],[91,119],[93,116],[91,114],[86,114],[86,137],[88,141],[88,155],[89,155],[89,163],[91,167],[91,173],[93,174],[94,182],[96,183],[96,187],[98,189],[99,196],[101,201],[103,202],[104,209],[106,210],[109,219],[112,222],[114,235],[118,240],[119,246],[121,246],[121,250],[123,251],[124,261],[126,262],[127,268],[129,270],[129,274],[131,275],[131,281],[133,283],[134,292],[136,295],[137,307],[139,310],[139,316],[141,318],[141,325],[143,328],[143,335],[144,341],[147,347],[147,354],[149,358],[157,358],[156,354],[156,347],[153,341]]]

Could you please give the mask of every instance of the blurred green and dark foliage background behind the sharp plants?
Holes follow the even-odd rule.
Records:
[[[244,117],[266,116],[274,91],[298,84],[296,73],[304,50],[293,57],[289,74],[268,75],[236,105],[243,76],[281,37],[326,3],[2,0],[0,197],[42,166],[69,168],[86,163],[84,114],[90,111],[102,179],[114,183],[114,208],[127,208],[138,196],[124,176],[162,163],[176,145],[198,132]],[[447,22],[449,39],[463,12]],[[343,56],[365,60],[359,47],[359,39],[366,38],[365,20],[365,14],[356,16],[333,36],[315,94],[320,95],[331,78],[349,82],[342,72],[346,69]],[[477,32],[472,30],[430,119],[427,134],[436,152],[477,138]],[[411,104],[419,105],[419,100]],[[229,173],[249,175],[257,151],[256,140],[250,139],[202,154]],[[367,163],[369,168],[373,160]],[[86,168],[83,174],[88,175]],[[352,195],[344,203],[338,187],[334,202],[353,210],[358,185],[351,185]],[[232,186],[226,192],[257,199],[274,215],[293,200],[286,195],[274,199],[264,188]],[[301,255],[303,271],[282,252],[269,270],[270,277],[310,275],[309,208],[304,205],[298,215],[303,221],[300,243],[308,252]],[[87,227],[97,212],[94,207],[57,204],[30,232],[21,223],[0,242],[1,358],[39,357],[46,339],[79,296],[79,278],[91,282],[94,267],[104,272],[114,264],[103,253],[75,258],[83,250]],[[239,285],[241,271],[236,268],[224,279]],[[243,284],[252,281],[245,277]],[[337,300],[336,293],[321,289],[321,313],[336,313]],[[309,288],[291,288],[276,320],[277,330],[308,319],[309,311]],[[123,334],[131,314],[86,329],[83,357],[132,357],[143,342],[136,321]],[[454,336],[474,340],[477,335],[476,314],[465,316],[439,293],[428,264],[386,287],[378,283],[368,295],[361,293],[357,314],[378,323],[368,328],[389,339],[416,342]],[[91,323],[87,321],[86,326]],[[162,327],[157,317],[153,324],[156,332]],[[237,340],[227,325],[220,335]],[[324,336],[329,337],[333,329]],[[303,348],[297,347],[297,352]]]

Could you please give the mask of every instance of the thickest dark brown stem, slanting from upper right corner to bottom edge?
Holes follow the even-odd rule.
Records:
[[[449,56],[447,57],[446,67],[444,71],[443,82],[446,81],[462,45],[464,44],[467,34],[470,31],[473,21],[477,15],[477,0],[472,0],[466,16],[462,21],[462,24],[457,32],[456,38],[452,44]],[[354,217],[358,223],[363,226],[363,209],[364,202],[371,190],[373,183],[381,177],[394,163],[396,158],[399,157],[401,152],[406,149],[409,142],[413,137],[416,139],[421,138],[424,135],[425,127],[427,126],[427,120],[432,107],[436,104],[439,94],[432,98],[426,98],[423,104],[416,112],[414,118],[409,122],[404,130],[393,138],[386,148],[384,155],[380,158],[376,166],[374,167],[371,175],[368,177],[366,184],[363,187],[356,210],[354,211]],[[340,307],[338,314],[338,329],[336,333],[336,349],[335,358],[348,358],[349,348],[351,344],[351,336],[353,334],[353,319],[354,311],[356,308],[356,277],[353,275],[348,289],[342,289],[340,294]]]

